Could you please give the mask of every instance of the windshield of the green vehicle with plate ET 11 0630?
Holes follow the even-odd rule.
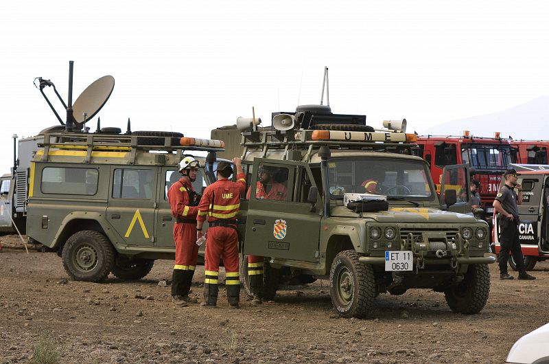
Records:
[[[342,199],[344,193],[370,193],[432,200],[430,174],[420,161],[388,158],[329,159],[329,192],[331,199]]]

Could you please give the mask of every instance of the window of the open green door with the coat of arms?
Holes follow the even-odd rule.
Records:
[[[288,192],[288,168],[259,164],[257,182],[248,187],[246,196],[255,196],[259,200],[288,201],[292,193]],[[256,181],[254,178],[253,181]]]

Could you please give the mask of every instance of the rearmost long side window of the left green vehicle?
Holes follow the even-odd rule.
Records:
[[[93,196],[97,193],[99,170],[93,168],[47,167],[42,170],[40,190],[43,194],[80,194]]]

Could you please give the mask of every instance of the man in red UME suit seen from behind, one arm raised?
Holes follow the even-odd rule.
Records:
[[[218,181],[212,183],[202,195],[196,218],[196,238],[202,238],[202,225],[208,218],[204,264],[204,302],[200,306],[215,307],[218,302],[219,263],[223,258],[225,286],[231,308],[240,303],[240,277],[238,274],[238,233],[236,216],[240,209],[240,195],[246,190],[242,172],[242,159],[233,158],[237,168],[237,181],[229,180],[233,174],[231,163],[218,164]]]

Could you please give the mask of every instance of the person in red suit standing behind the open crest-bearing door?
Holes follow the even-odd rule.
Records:
[[[279,170],[274,167],[259,166],[257,181],[255,185],[255,198],[261,200],[285,201],[286,187],[282,183],[274,181],[274,175]],[[250,190],[246,198],[250,198]],[[252,304],[261,304],[263,299],[263,273],[264,258],[257,255],[248,255],[248,277],[250,277],[250,291],[253,295]]]

